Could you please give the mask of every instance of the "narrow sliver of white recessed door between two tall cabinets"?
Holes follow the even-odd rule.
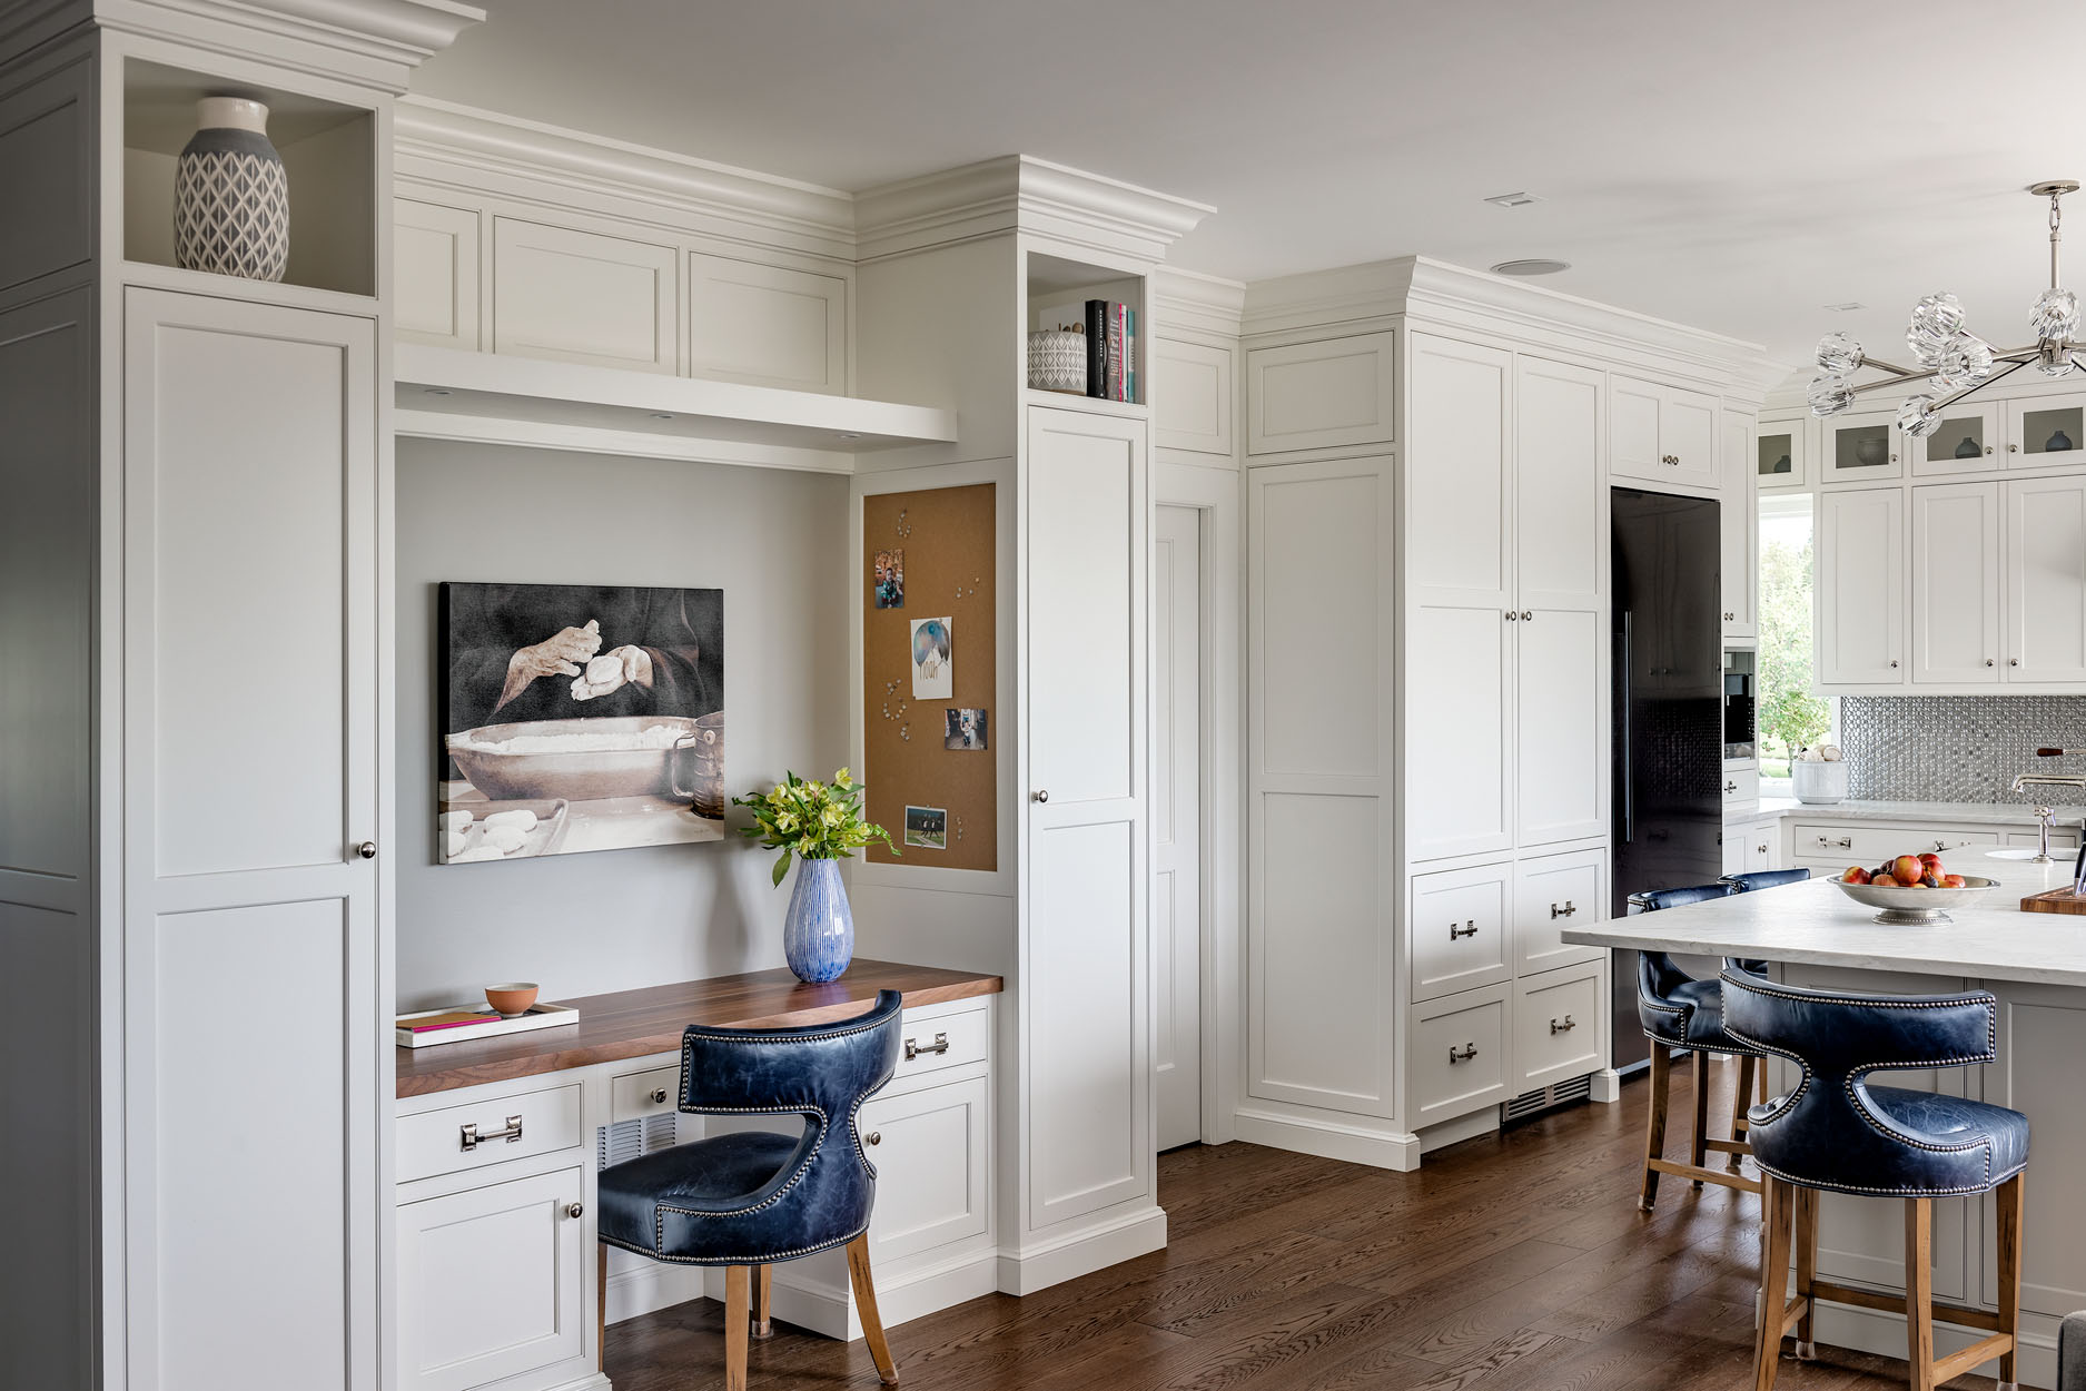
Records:
[[[1158,1147],[1202,1139],[1202,513],[1151,540],[1151,978]]]

